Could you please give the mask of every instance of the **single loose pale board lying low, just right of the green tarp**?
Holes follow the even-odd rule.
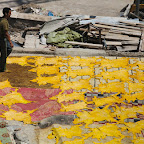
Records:
[[[92,43],[83,43],[83,42],[74,42],[74,41],[66,41],[65,43],[71,45],[80,45],[89,48],[103,48],[103,45],[101,44],[92,44]]]

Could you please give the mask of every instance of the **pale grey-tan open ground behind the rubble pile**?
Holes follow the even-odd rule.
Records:
[[[127,4],[133,3],[133,0],[1,0],[0,9],[31,2],[59,15],[119,16],[120,10]]]

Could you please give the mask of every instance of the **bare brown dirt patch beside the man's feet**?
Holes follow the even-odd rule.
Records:
[[[51,88],[51,84],[38,85],[31,80],[37,77],[36,73],[30,72],[31,67],[20,66],[18,64],[7,64],[8,72],[0,73],[0,82],[8,80],[12,87],[27,88]]]

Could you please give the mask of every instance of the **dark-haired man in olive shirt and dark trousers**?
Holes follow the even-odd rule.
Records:
[[[0,72],[4,72],[6,70],[6,58],[12,52],[13,44],[10,39],[10,35],[8,33],[9,23],[8,19],[11,16],[11,9],[4,8],[3,9],[3,17],[0,20]]]

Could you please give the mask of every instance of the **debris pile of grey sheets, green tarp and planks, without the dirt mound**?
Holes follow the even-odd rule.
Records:
[[[97,21],[98,19],[92,20]],[[33,48],[38,48],[38,43],[40,43],[40,45],[45,46],[55,45],[58,48],[78,47],[120,52],[143,51],[140,40],[144,24],[129,22],[128,20],[120,20],[118,24],[93,23],[92,20],[84,20],[85,22],[88,21],[88,24],[81,24],[83,20],[80,20],[79,17],[57,18],[46,22],[43,26],[27,27],[20,39],[24,39],[24,47]],[[71,34],[67,35],[67,31],[79,36],[75,39]]]

